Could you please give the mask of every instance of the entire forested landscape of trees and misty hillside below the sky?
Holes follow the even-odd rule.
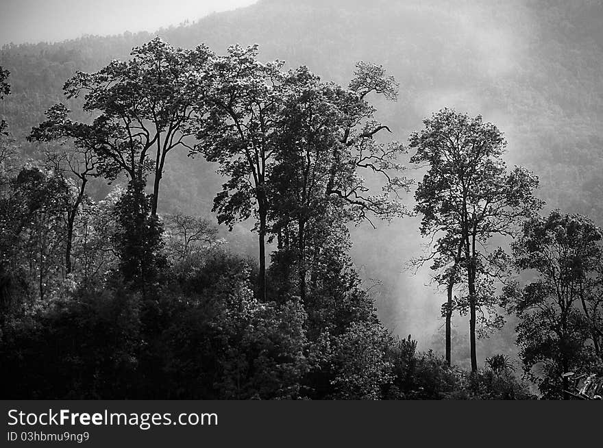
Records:
[[[601,395],[602,5],[340,3],[3,47],[4,397]]]

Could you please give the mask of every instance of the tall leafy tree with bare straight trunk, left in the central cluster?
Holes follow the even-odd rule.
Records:
[[[212,65],[214,83],[208,116],[197,122],[195,151],[220,165],[227,177],[214,199],[218,222],[230,226],[256,216],[259,296],[265,301],[266,237],[269,203],[267,181],[273,166],[275,129],[281,110],[282,62],[262,64],[258,47],[230,47]]]

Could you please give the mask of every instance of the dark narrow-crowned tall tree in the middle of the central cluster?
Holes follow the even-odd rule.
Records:
[[[319,216],[332,214],[325,189],[333,163],[332,149],[339,145],[334,130],[343,114],[332,101],[332,90],[306,67],[290,71],[286,83],[275,166],[267,189],[271,202],[268,218],[272,237],[278,238],[278,255],[273,256],[273,262],[282,264],[283,277],[297,272],[293,275],[297,282],[291,282],[297,283],[293,291],[307,305],[306,249],[320,244],[312,240],[318,232],[308,235],[308,227]]]

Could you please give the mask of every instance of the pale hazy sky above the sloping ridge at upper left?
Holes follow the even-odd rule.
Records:
[[[257,0],[0,0],[0,45],[154,31]]]

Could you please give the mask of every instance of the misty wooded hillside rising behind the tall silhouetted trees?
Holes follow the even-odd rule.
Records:
[[[505,132],[508,162],[539,175],[547,208],[602,222],[602,19],[603,3],[596,0],[512,0],[496,6],[487,0],[260,0],[157,34],[173,45],[205,42],[218,52],[234,43],[258,43],[265,59],[305,64],[343,84],[356,61],[383,64],[400,83],[397,103],[378,103],[396,138],[406,140],[424,116],[445,106],[482,114]],[[11,72],[12,95],[0,114],[16,145],[32,153],[23,136],[45,108],[62,100],[62,84],[75,70],[93,71],[126,58],[152,36],[3,47],[0,65]],[[164,208],[208,213],[220,182],[213,167],[180,155],[169,171]],[[418,239],[415,219],[374,232],[360,227],[354,254],[367,282],[382,282],[374,291],[386,325],[412,333],[426,348],[439,326],[441,299],[424,286],[428,272],[413,276],[403,270],[420,250]],[[459,332],[465,326],[458,323]],[[484,353],[506,349],[504,340],[494,338]]]

